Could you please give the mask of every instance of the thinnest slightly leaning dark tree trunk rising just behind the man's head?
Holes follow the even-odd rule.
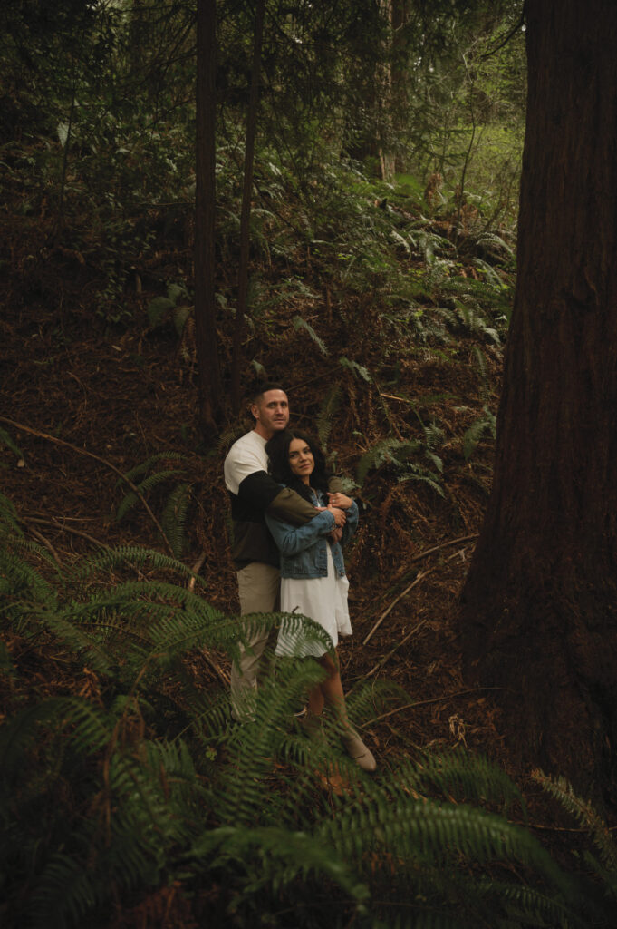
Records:
[[[255,7],[255,33],[251,68],[251,94],[247,115],[247,137],[244,150],[244,187],[242,190],[242,213],[240,216],[240,266],[238,270],[238,301],[234,328],[234,354],[232,362],[231,397],[234,412],[240,408],[240,377],[242,362],[242,334],[247,312],[249,293],[249,248],[251,245],[251,199],[255,134],[259,108],[259,77],[262,68],[262,44],[264,40],[265,0],[257,0]]]

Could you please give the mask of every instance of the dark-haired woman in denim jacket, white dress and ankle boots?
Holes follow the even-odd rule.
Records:
[[[324,456],[315,441],[304,433],[291,429],[277,433],[266,443],[265,451],[270,459],[272,476],[321,511],[300,527],[266,514],[268,529],[280,552],[281,610],[285,613],[295,610],[318,622],[335,647],[334,657],[315,642],[302,642],[299,647],[297,637],[281,631],[276,654],[301,658],[311,656],[319,662],[327,676],[309,692],[307,730],[318,731],[324,705],[328,703],[338,717],[341,740],[348,754],[363,770],[374,771],[377,767],[375,758],[347,716],[336,652],[339,636],[352,635],[347,608],[349,582],[345,576],[340,542],[345,544],[352,537],[358,522],[358,507],[344,493],[328,494],[329,476]],[[341,538],[341,530],[336,530],[332,507],[346,512]]]

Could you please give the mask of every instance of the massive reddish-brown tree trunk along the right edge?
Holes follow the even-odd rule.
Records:
[[[518,282],[469,676],[526,764],[617,784],[617,4],[527,0]]]

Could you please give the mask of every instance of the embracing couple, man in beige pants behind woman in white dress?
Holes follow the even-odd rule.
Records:
[[[255,425],[238,438],[225,458],[225,485],[231,498],[232,556],[238,571],[240,612],[294,610],[318,622],[334,651],[279,632],[276,655],[317,661],[324,680],[309,691],[304,722],[317,735],[325,704],[336,714],[341,741],[366,771],[377,767],[347,716],[336,652],[340,635],[351,635],[348,582],[341,551],[357,526],[358,508],[328,474],[314,439],[289,428],[289,401],[279,384],[261,386],[251,403]],[[232,665],[232,714],[251,718],[260,663],[268,640],[258,631],[240,648]]]

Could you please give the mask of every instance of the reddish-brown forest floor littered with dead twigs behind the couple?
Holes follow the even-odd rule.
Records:
[[[116,521],[124,496],[117,484],[120,473],[152,455],[180,452],[183,461],[170,464],[193,482],[196,502],[186,527],[184,560],[192,565],[202,558],[200,573],[210,602],[225,613],[237,612],[222,467],[226,448],[250,427],[250,420],[237,420],[214,448],[194,451],[199,437],[192,362],[179,350],[171,326],[156,332],[149,328],[146,307],[154,294],[127,296],[135,325],[105,332],[88,306],[88,281],[75,255],[56,252],[46,268],[32,268],[32,252],[19,260],[23,290],[34,296],[17,301],[16,294],[6,294],[6,307],[16,308],[0,323],[0,426],[21,454],[5,445],[0,461],[2,490],[17,507],[24,530],[62,565],[101,545],[164,550],[145,510],[135,507],[130,518]],[[33,289],[32,281],[37,281]],[[73,309],[63,315],[67,294]],[[302,307],[291,307],[287,321],[278,315],[264,326],[259,357],[268,375],[288,387],[292,422],[310,429],[328,379],[337,372],[291,326],[292,313],[299,311]],[[367,331],[378,326],[376,320],[365,307]],[[332,330],[335,341],[336,326]],[[389,421],[388,429],[405,432],[410,417],[417,415],[405,398],[418,399],[418,408],[430,408],[432,417],[450,424],[452,436],[460,433],[457,423],[479,405],[471,346],[458,347],[456,363],[429,349],[405,360],[403,397],[395,388],[379,391],[374,384],[360,391],[350,375],[344,409],[329,439],[342,473],[353,476],[371,437],[384,434],[383,421]],[[379,339],[372,350],[379,350]],[[490,402],[495,409],[498,350],[492,358]],[[445,448],[445,499],[427,483],[399,483],[387,467],[377,469],[359,491],[363,515],[349,560],[354,635],[341,644],[342,677],[348,689],[367,679],[390,679],[409,695],[406,702],[398,697],[391,709],[380,709],[366,731],[382,764],[410,747],[462,743],[509,766],[490,692],[463,680],[456,627],[456,598],[487,500],[492,443],[481,443],[469,464],[455,441],[447,445],[452,461],[448,464]],[[161,488],[158,492],[158,498],[156,492],[150,498],[153,510],[163,500]],[[222,687],[228,674],[225,656],[211,658],[207,664],[195,656],[195,673],[203,675],[204,687]],[[38,663],[32,652],[29,661]],[[32,667],[37,688],[59,685],[80,692],[84,687],[87,669],[84,680],[68,681],[63,680],[61,656],[56,663],[53,653],[42,652],[39,661]]]

